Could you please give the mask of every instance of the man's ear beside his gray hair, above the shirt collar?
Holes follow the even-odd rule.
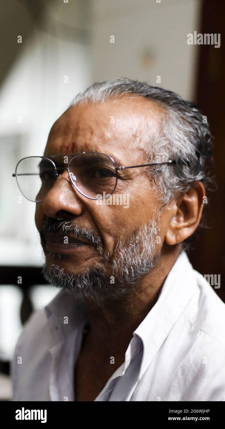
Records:
[[[204,186],[198,181],[170,206],[170,224],[165,235],[168,245],[178,244],[195,232],[201,219],[204,196]]]

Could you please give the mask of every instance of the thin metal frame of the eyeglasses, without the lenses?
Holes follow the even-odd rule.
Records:
[[[83,196],[85,196],[86,198],[96,200],[96,199],[98,199],[98,198],[92,198],[91,196],[85,195],[85,193],[83,193],[81,190],[79,190],[79,189],[78,189],[78,187],[77,187],[77,186],[76,186],[76,184],[74,183],[74,180],[76,180],[76,178],[74,178],[73,173],[72,173],[72,172],[70,172],[70,169],[69,169],[69,168],[70,168],[70,163],[71,163],[71,161],[72,161],[74,158],[76,158],[77,156],[79,156],[79,155],[83,155],[83,154],[100,154],[100,155],[104,155],[104,156],[108,157],[108,158],[113,162],[113,165],[114,165],[114,167],[115,167],[115,172],[116,172],[116,184],[115,184],[115,187],[113,188],[113,191],[112,191],[110,194],[107,194],[107,198],[108,198],[108,195],[112,195],[112,194],[113,194],[113,192],[114,192],[114,190],[116,189],[116,185],[117,185],[117,181],[118,181],[118,174],[117,174],[117,172],[118,172],[118,171],[125,170],[125,169],[127,169],[127,168],[147,167],[147,166],[152,166],[152,165],[161,165],[161,164],[172,164],[172,163],[174,163],[174,162],[175,162],[175,161],[173,161],[173,160],[169,160],[169,161],[167,161],[167,162],[151,163],[151,164],[140,164],[140,165],[131,165],[131,166],[127,166],[127,167],[126,167],[126,166],[117,166],[117,165],[116,165],[116,163],[115,163],[115,161],[113,160],[113,158],[112,158],[112,157],[110,157],[110,156],[109,156],[109,155],[107,155],[107,154],[103,154],[102,152],[80,152],[79,154],[50,155],[50,157],[47,157],[47,156],[31,156],[31,157],[21,158],[21,160],[19,160],[19,161],[18,161],[18,163],[17,163],[17,165],[16,165],[16,167],[15,167],[15,173],[13,173],[13,174],[12,174],[12,177],[15,177],[15,178],[16,178],[16,181],[17,181],[17,184],[18,184],[17,176],[19,176],[19,175],[29,175],[29,176],[30,176],[30,175],[37,175],[38,173],[21,173],[21,174],[17,174],[17,167],[18,167],[19,163],[20,163],[21,161],[25,160],[25,159],[28,159],[28,158],[43,158],[43,159],[46,159],[46,160],[48,160],[48,161],[52,162],[53,166],[55,167],[55,180],[59,177],[59,175],[61,175],[61,173],[60,173],[60,172],[58,172],[58,170],[59,170],[59,171],[60,171],[60,170],[68,170],[68,175],[69,175],[70,181],[71,181],[71,183],[73,184],[73,186],[76,188],[76,190],[78,190],[78,192],[79,192],[79,193],[81,193],[81,194],[82,194]],[[56,165],[55,165],[55,163],[52,161],[52,159],[50,159],[50,158],[54,158],[54,157],[63,157],[63,156],[70,156],[70,155],[73,155],[73,157],[70,159],[70,161],[69,161],[69,163],[68,163],[68,167],[58,167],[58,168],[57,168],[57,167],[56,167]],[[24,193],[22,192],[22,190],[21,190],[21,188],[20,188],[19,184],[18,184],[18,188],[19,188],[19,190],[21,191],[21,193],[22,193],[22,195],[24,196],[24,198],[28,199],[28,201],[31,201],[31,202],[42,202],[42,201],[44,201],[44,199],[42,199],[42,200],[40,200],[40,201],[33,201],[32,199],[29,199],[29,198],[27,198],[27,197],[24,195]],[[102,198],[102,199],[105,199],[105,198],[106,198],[106,196],[105,196],[104,198]]]

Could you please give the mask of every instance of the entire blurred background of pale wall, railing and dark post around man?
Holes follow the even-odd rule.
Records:
[[[23,324],[58,293],[41,274],[35,204],[21,196],[12,173],[22,157],[43,154],[52,124],[93,82],[145,81],[197,102],[207,115],[218,190],[209,194],[208,227],[198,230],[189,258],[203,275],[220,275],[215,291],[225,301],[224,27],[223,0],[1,2],[1,400],[11,396],[7,374]],[[220,33],[220,48],[188,45],[194,31]]]

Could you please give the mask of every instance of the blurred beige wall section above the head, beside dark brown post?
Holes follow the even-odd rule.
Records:
[[[124,76],[193,99],[199,46],[188,45],[187,34],[199,30],[201,1],[94,0],[91,4],[94,81]],[[161,76],[161,83],[156,76]]]

